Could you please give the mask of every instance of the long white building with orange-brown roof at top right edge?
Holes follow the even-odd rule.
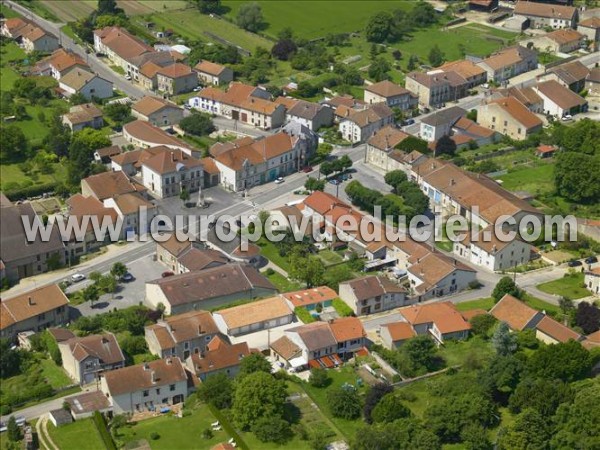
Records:
[[[577,8],[520,0],[513,11],[515,16],[529,19],[531,28],[575,28]]]

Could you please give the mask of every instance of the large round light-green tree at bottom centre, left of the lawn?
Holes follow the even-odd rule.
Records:
[[[235,424],[248,430],[261,417],[281,417],[287,398],[285,382],[265,372],[242,377],[235,389],[231,414]]]

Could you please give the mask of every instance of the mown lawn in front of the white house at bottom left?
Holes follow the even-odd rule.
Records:
[[[202,437],[202,431],[210,428],[210,424],[216,420],[208,406],[200,405],[186,417],[178,418],[173,414],[165,414],[123,427],[119,430],[118,440],[127,444],[145,439],[152,450],[208,450],[219,442],[229,439],[229,435],[224,430],[215,431],[211,439]],[[153,432],[158,433],[160,437],[151,439],[150,434]]]

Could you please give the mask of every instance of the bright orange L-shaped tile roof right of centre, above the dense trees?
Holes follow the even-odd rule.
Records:
[[[443,334],[471,329],[469,322],[463,318],[451,302],[406,306],[400,308],[398,312],[412,326],[434,323]]]

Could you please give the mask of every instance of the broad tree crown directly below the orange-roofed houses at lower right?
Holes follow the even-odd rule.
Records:
[[[590,353],[570,340],[541,347],[527,361],[527,369],[534,377],[571,382],[588,376],[592,364]]]

